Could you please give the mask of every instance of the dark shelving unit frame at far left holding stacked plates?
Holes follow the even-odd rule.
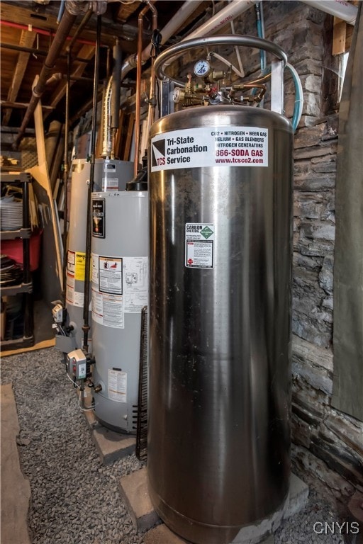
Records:
[[[18,285],[9,285],[1,288],[1,297],[23,294],[23,336],[20,338],[1,340],[1,351],[8,351],[34,345],[33,334],[33,281],[30,273],[30,215],[29,215],[29,183],[30,174],[0,174],[0,183],[20,184],[23,190],[23,227],[18,230],[2,230],[1,239],[13,240],[21,238],[23,241],[23,280]]]

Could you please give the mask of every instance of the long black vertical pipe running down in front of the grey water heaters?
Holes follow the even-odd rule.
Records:
[[[91,128],[91,163],[89,172],[89,190],[87,196],[87,225],[86,225],[86,260],[84,263],[84,307],[83,319],[83,349],[88,352],[88,333],[89,333],[89,273],[91,271],[91,240],[92,240],[92,214],[91,214],[91,193],[94,190],[94,163],[96,150],[96,126],[97,126],[97,86],[99,83],[99,64],[100,64],[100,45],[101,45],[101,16],[97,16],[97,37],[96,52],[94,57],[94,94],[92,128]]]

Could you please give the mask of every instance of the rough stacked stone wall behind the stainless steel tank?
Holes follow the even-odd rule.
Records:
[[[264,2],[266,38],[286,51],[304,95],[294,145],[293,469],[346,502],[355,489],[363,490],[363,424],[331,407],[338,123],[337,114],[322,118],[325,68],[332,65],[326,57],[329,17],[298,1]],[[240,17],[238,33],[256,34],[253,10]],[[256,62],[245,55],[247,74],[255,72]],[[285,91],[289,116],[294,108],[289,78]]]

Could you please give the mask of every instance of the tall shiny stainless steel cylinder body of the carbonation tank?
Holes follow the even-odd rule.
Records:
[[[292,140],[245,106],[150,134],[148,483],[192,543],[276,528],[289,492]]]

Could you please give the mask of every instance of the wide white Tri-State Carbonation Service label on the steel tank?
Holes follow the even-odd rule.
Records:
[[[152,172],[203,166],[269,166],[269,130],[222,125],[152,138]]]

